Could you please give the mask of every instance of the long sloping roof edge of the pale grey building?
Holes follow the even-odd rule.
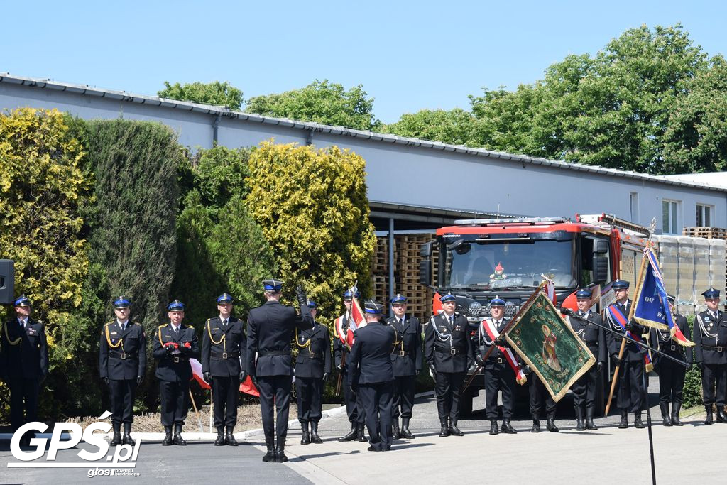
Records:
[[[170,100],[164,97],[137,95],[126,91],[118,91],[113,89],[102,89],[91,87],[87,84],[70,84],[51,79],[28,78],[22,76],[11,76],[9,73],[0,73],[0,83],[20,84],[29,87],[38,87],[41,89],[53,89],[56,91],[72,92],[84,96],[107,97],[113,100],[121,100],[129,103],[146,104],[160,106],[162,108],[172,108],[182,111],[194,111],[197,113],[205,113],[212,116],[223,116],[230,119],[240,119],[243,121],[252,121],[262,124],[273,124],[281,127],[289,127],[293,129],[308,130],[311,132],[319,132],[331,135],[342,135],[348,137],[361,138],[364,140],[372,140],[381,143],[395,143],[398,145],[408,145],[421,148],[430,148],[438,151],[449,151],[454,153],[466,153],[472,156],[484,156],[491,159],[501,159],[505,161],[513,161],[519,164],[542,165],[544,167],[553,167],[556,169],[574,170],[576,172],[590,172],[611,177],[624,177],[635,180],[643,180],[644,182],[678,185],[682,187],[697,188],[699,190],[727,192],[726,185],[711,185],[703,183],[701,180],[692,181],[680,176],[662,176],[648,175],[639,172],[631,172],[628,170],[618,170],[598,165],[573,164],[566,161],[558,161],[544,159],[534,156],[518,155],[514,153],[505,153],[500,151],[486,150],[485,148],[470,148],[465,145],[450,145],[448,143],[435,142],[430,140],[422,140],[420,138],[400,137],[386,133],[370,132],[361,129],[352,129],[345,127],[335,127],[328,124],[314,123],[311,121],[295,121],[286,118],[273,118],[270,116],[262,116],[256,113],[244,113],[242,111],[233,111],[225,106],[205,105],[201,103],[192,103],[190,101]],[[711,182],[711,180],[710,180]]]

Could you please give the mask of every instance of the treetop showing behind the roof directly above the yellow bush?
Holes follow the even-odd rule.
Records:
[[[341,84],[316,79],[302,89],[252,97],[245,111],[355,129],[377,129],[381,121],[374,119],[371,112],[374,98],[367,96],[361,84],[345,91]]]

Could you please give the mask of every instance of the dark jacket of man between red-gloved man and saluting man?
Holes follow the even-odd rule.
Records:
[[[247,366],[247,339],[243,323],[230,316],[227,326],[220,317],[209,318],[202,329],[202,372],[212,377],[238,376]]]

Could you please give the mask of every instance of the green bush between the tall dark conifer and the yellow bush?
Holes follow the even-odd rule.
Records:
[[[235,298],[237,315],[259,305],[262,280],[275,270],[262,229],[245,204],[249,152],[202,150],[182,170],[190,182],[177,219],[172,292],[188,305],[189,322],[214,316],[214,299],[222,292]]]

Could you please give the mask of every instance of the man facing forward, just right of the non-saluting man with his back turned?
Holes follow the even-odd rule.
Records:
[[[409,431],[411,409],[414,408],[414,388],[419,371],[422,370],[422,325],[419,318],[406,315],[406,297],[396,294],[390,300],[394,313],[387,323],[394,327],[397,334],[391,358],[393,361],[393,401],[392,424],[393,438],[412,439]],[[399,415],[401,410],[401,432]]]

